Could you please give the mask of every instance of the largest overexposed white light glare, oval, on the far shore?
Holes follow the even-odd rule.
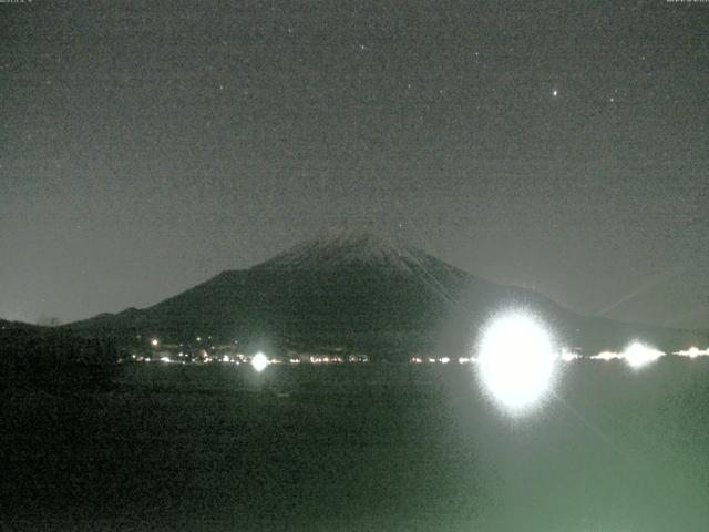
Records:
[[[484,331],[480,376],[495,399],[516,410],[548,390],[557,359],[544,326],[530,316],[511,314],[495,319]]]

